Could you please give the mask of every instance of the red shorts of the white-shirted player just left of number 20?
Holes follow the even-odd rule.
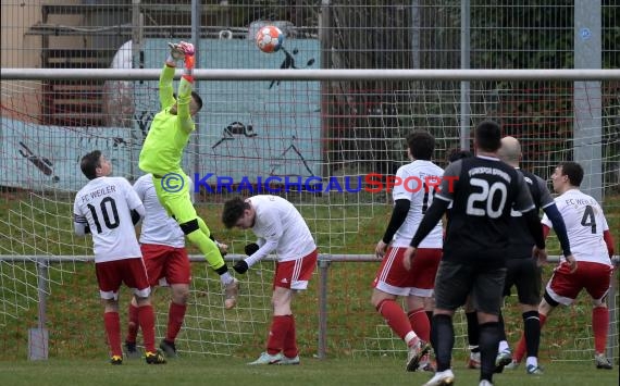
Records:
[[[396,296],[416,295],[429,298],[435,288],[435,275],[442,260],[441,248],[419,248],[411,264],[411,271],[405,270],[402,256],[407,248],[387,248],[381,267],[372,286],[386,294]]]

